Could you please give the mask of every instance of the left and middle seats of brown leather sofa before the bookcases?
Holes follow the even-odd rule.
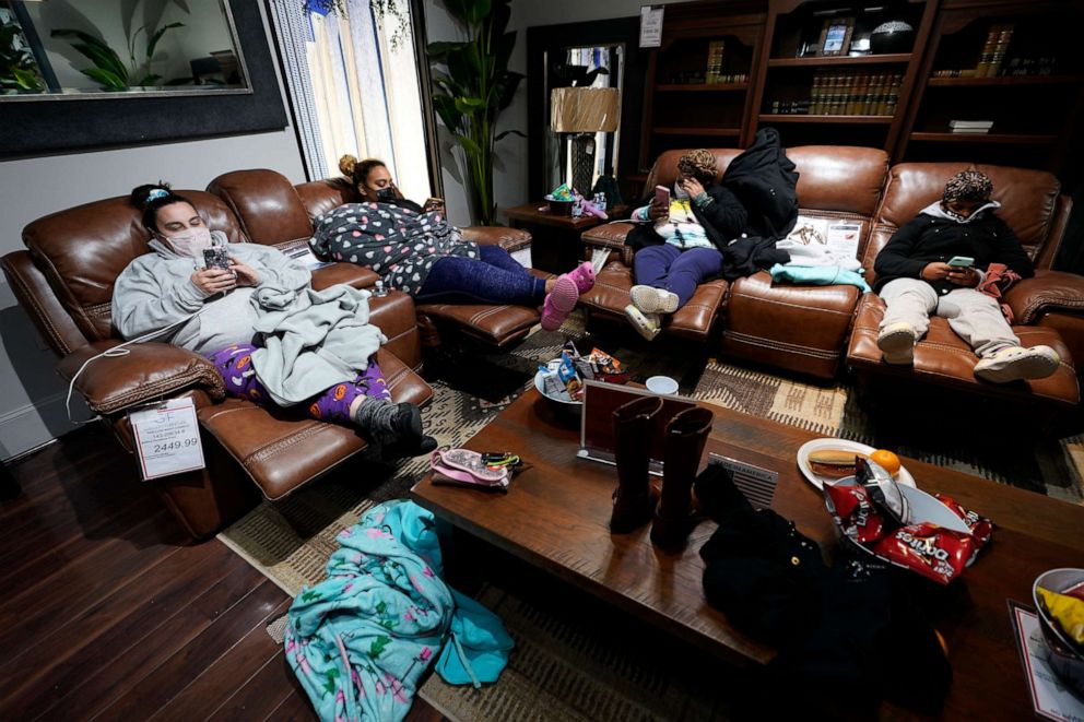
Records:
[[[645,187],[673,185],[678,159],[686,152],[669,151],[659,156]],[[719,177],[741,153],[735,149],[711,152]],[[789,149],[787,155],[800,174],[801,215],[861,223],[865,238],[888,171],[884,151],[810,145]],[[624,240],[632,227],[617,223],[584,233],[589,249],[604,247],[614,251],[599,273],[594,289],[580,299],[593,317],[625,322],[623,309],[629,303],[633,272],[632,252]],[[709,281],[669,319],[663,333],[705,341],[724,312],[724,354],[828,379],[839,368],[860,295],[857,287],[847,285],[776,285],[765,272],[729,285],[722,280]]]

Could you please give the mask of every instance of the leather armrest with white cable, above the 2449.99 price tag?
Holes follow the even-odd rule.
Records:
[[[91,357],[114,346],[117,340],[97,341],[68,354],[57,370],[66,380]],[[98,414],[114,414],[192,387],[212,399],[226,394],[222,376],[209,359],[168,343],[137,343],[126,346],[125,356],[95,359],[75,379],[75,389]]]

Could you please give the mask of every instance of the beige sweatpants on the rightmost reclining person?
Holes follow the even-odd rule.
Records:
[[[1002,346],[1018,346],[1020,339],[990,296],[974,288],[955,288],[939,295],[926,281],[896,279],[881,289],[884,319],[881,329],[893,323],[910,323],[921,339],[930,330],[930,313],[947,319],[948,327],[983,356]]]

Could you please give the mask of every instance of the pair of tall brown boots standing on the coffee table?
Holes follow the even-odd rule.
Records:
[[[651,521],[651,541],[667,551],[685,546],[699,521],[693,482],[715,414],[686,409],[662,424],[662,399],[644,396],[613,412],[617,490],[613,495],[610,530],[623,534]],[[651,447],[663,434],[662,494],[648,475]]]

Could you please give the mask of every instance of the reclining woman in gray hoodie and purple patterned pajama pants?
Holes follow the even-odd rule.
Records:
[[[232,395],[267,406],[303,404],[313,418],[358,428],[386,453],[436,448],[417,406],[391,402],[370,358],[385,339],[368,323],[367,292],[311,291],[307,269],[270,246],[229,244],[167,185],[140,186],[131,202],[143,212],[151,252],[114,286],[113,322],[122,336],[168,334],[170,343],[210,358]],[[329,329],[317,351],[308,350],[316,326],[282,332],[301,344],[275,335],[309,317]],[[294,398],[299,390],[307,398]]]

